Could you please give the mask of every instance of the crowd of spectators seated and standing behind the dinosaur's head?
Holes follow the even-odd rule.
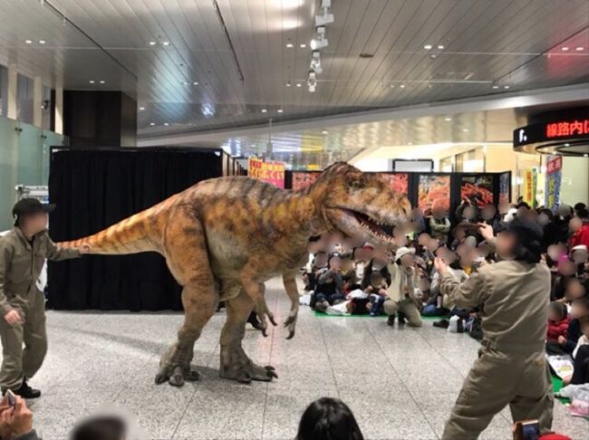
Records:
[[[415,208],[409,223],[389,231],[394,244],[386,247],[339,233],[314,237],[303,273],[310,306],[329,314],[386,315],[391,326],[419,327],[422,317],[437,316],[434,326],[480,339],[480,310],[445,300],[434,259],[449,263],[459,281],[468,279],[497,261],[493,237],[515,218],[544,230],[537,245],[552,273],[546,351],[574,359],[574,374],[565,383],[589,383],[589,212],[583,203],[562,204],[555,212],[521,201],[477,206],[467,200],[452,215],[439,206],[428,215]]]

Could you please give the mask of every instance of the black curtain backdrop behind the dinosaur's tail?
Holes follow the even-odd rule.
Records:
[[[53,241],[94,234],[182,191],[220,177],[219,152],[55,150],[49,177]],[[61,310],[182,309],[180,288],[158,253],[85,255],[49,264],[49,307]]]

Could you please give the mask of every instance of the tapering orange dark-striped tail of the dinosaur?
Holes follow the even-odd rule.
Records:
[[[175,196],[171,196],[158,205],[131,215],[101,232],[57,245],[80,247],[82,244],[90,244],[90,253],[100,254],[160,252],[166,211],[175,199]]]

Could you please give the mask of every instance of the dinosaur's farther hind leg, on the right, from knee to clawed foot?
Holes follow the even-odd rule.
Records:
[[[252,380],[270,381],[278,377],[274,368],[256,365],[241,346],[247,317],[253,309],[254,301],[243,289],[236,298],[227,301],[227,321],[221,332],[221,378],[249,383]]]

